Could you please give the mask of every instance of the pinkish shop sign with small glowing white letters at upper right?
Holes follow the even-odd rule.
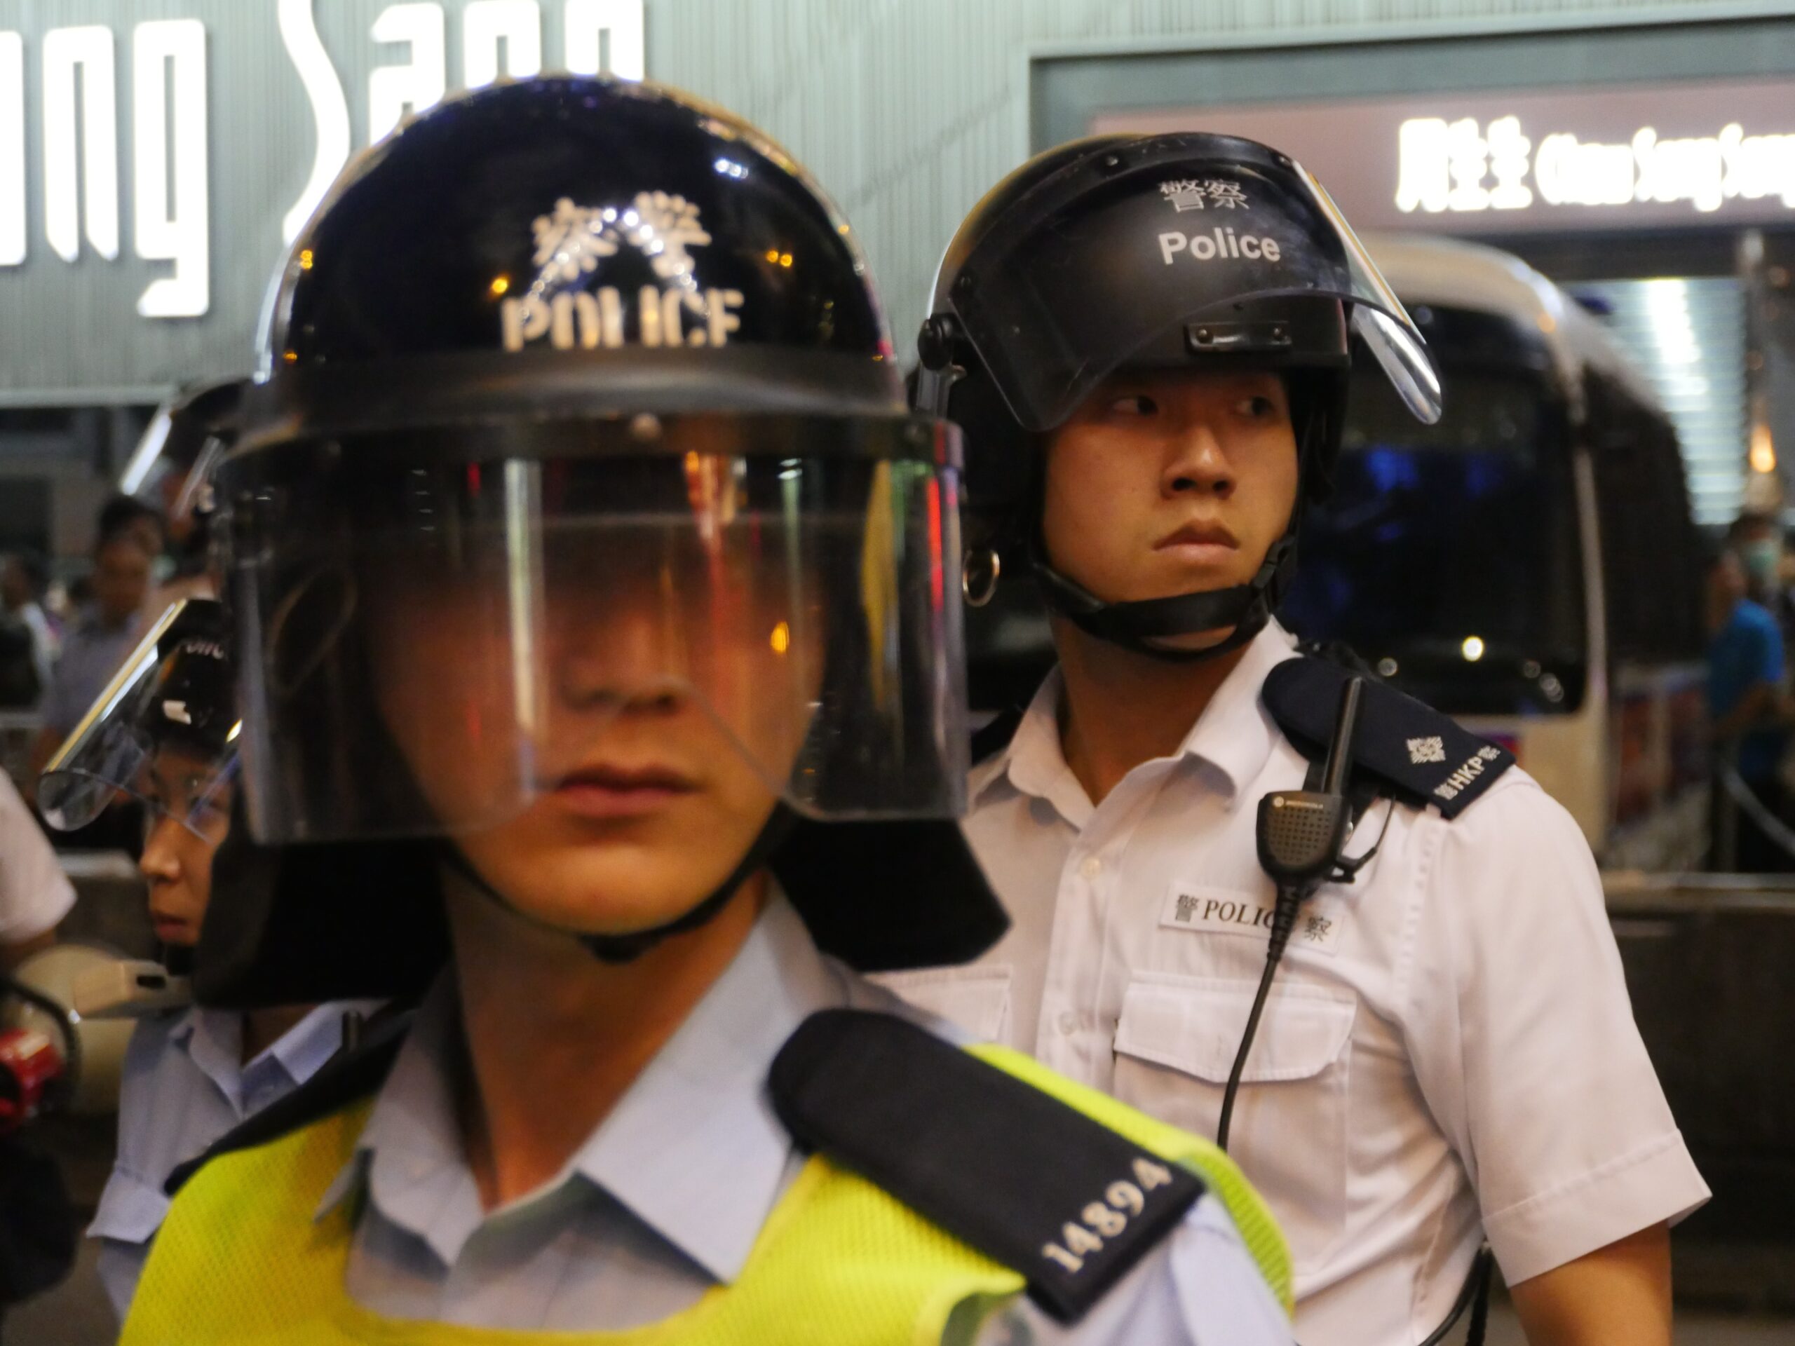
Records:
[[[1795,224],[1795,83],[1594,86],[1104,113],[1276,145],[1362,228]]]

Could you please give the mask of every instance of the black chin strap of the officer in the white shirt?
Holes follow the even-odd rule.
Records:
[[[1296,574],[1294,524],[1291,531],[1271,544],[1258,574],[1244,585],[1170,598],[1145,598],[1133,603],[1106,603],[1077,580],[1055,571],[1039,542],[1030,551],[1034,574],[1041,581],[1041,596],[1054,612],[1099,641],[1109,641],[1124,650],[1169,664],[1195,664],[1239,650],[1265,628]],[[1222,626],[1233,630],[1226,639],[1201,650],[1179,650],[1165,644],[1167,639],[1213,632]]]

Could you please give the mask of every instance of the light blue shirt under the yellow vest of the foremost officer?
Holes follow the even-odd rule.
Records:
[[[320,1202],[363,1193],[346,1289],[384,1317],[483,1328],[601,1332],[691,1307],[741,1274],[761,1226],[804,1165],[765,1080],[822,1009],[881,1009],[953,1034],[822,957],[775,897],[698,1001],[567,1167],[485,1211],[461,1149],[460,1012],[445,976],[425,998],[357,1145]],[[1077,1326],[1030,1301],[948,1341],[980,1346],[1289,1346],[1291,1328],[1224,1208],[1204,1197]]]

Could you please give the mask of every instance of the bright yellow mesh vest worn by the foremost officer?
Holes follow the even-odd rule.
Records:
[[[1226,1156],[1014,1052],[975,1052],[1161,1158],[1194,1167],[1235,1213],[1289,1308],[1283,1240]],[[883,1346],[939,1342],[962,1303],[996,1305],[1025,1289],[1018,1272],[813,1158],[774,1208],[741,1276],[659,1323],[528,1332],[382,1319],[345,1290],[355,1201],[316,1219],[325,1190],[355,1154],[370,1107],[363,1100],[194,1174],[151,1247],[120,1346]]]

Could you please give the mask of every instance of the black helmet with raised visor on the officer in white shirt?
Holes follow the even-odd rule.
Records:
[[[1116,370],[1276,370],[1303,492],[1318,497],[1339,452],[1352,336],[1418,418],[1440,416],[1420,334],[1301,165],[1237,136],[1093,136],[1021,165],[960,224],[917,337],[915,404],[966,429],[968,531],[993,553],[1020,549],[1048,607],[1143,653],[1206,659],[1276,610],[1301,503],[1251,583],[1106,603],[1041,546],[1041,436]],[[1217,626],[1235,632],[1195,651],[1163,644]]]

